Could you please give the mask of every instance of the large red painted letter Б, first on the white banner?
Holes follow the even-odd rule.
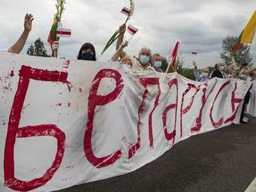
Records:
[[[34,190],[45,185],[54,173],[61,166],[64,156],[65,134],[56,125],[35,125],[19,127],[22,107],[26,98],[26,92],[29,87],[30,79],[36,81],[52,81],[67,82],[67,73],[60,71],[39,70],[31,67],[23,66],[19,70],[19,84],[16,95],[12,104],[12,110],[9,116],[8,132],[5,140],[5,156],[4,156],[4,174],[5,186],[12,190],[28,191]],[[24,181],[16,178],[14,164],[14,147],[16,138],[26,138],[34,136],[53,136],[57,139],[57,152],[52,166],[39,177],[33,180]]]

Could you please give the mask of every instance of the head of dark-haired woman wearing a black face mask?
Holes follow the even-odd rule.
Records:
[[[78,60],[96,60],[95,48],[92,43],[85,43],[78,53]]]

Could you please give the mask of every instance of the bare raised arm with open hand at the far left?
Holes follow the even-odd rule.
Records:
[[[1,52],[9,52],[9,53],[20,53],[23,47],[26,44],[26,39],[29,36],[29,33],[32,29],[33,15],[26,14],[24,19],[24,30],[22,35],[19,37],[16,43],[14,43],[9,49],[1,49]]]

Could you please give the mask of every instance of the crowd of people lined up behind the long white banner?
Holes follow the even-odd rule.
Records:
[[[9,52],[9,53],[20,53],[23,47],[26,44],[26,40],[29,36],[29,32],[32,29],[33,15],[26,14],[24,19],[24,30],[22,35],[19,37],[16,43],[14,43],[9,49],[0,49],[0,52]],[[123,64],[124,68],[131,70],[139,71],[156,71],[159,73],[172,73],[175,72],[175,67],[169,66],[168,71],[162,70],[162,61],[163,57],[160,53],[151,53],[151,50],[147,47],[142,47],[138,53],[138,57],[130,56],[124,51],[125,47],[128,46],[128,42],[123,40],[124,34],[126,33],[126,25],[119,27],[119,38],[116,43],[116,52],[112,55],[112,62],[119,62]],[[53,50],[59,49],[59,42],[55,41],[51,47]],[[78,60],[92,60],[96,61],[96,52],[95,46],[92,43],[85,43],[81,46],[81,49],[78,52]],[[256,67],[248,67],[248,63],[216,63],[215,69],[210,74],[209,67],[202,67],[198,69],[197,64],[193,61],[195,81],[203,82],[207,79],[218,77],[218,78],[236,78],[244,81],[254,81],[254,72]],[[250,100],[250,90],[247,91],[247,94],[244,98],[244,105],[240,115],[240,122],[247,123],[248,118],[244,115],[244,110],[247,103]]]

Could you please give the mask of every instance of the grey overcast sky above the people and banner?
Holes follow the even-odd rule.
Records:
[[[98,60],[109,60],[115,45],[100,55],[107,40],[125,19],[120,10],[129,7],[129,0],[66,0],[62,18],[64,27],[71,28],[71,38],[61,38],[60,57],[74,58],[85,42],[95,45]],[[1,0],[0,47],[9,47],[18,39],[23,29],[26,12],[35,17],[27,46],[38,37],[43,39],[47,52],[47,36],[56,12],[56,0]],[[239,36],[256,9],[255,0],[134,0],[135,12],[130,24],[139,32],[130,40],[126,52],[137,55],[140,48],[148,46],[153,53],[168,57],[177,40],[179,54],[185,58],[186,67],[192,60],[199,66],[220,61],[221,41],[227,36]],[[129,35],[126,39],[129,39]],[[256,63],[256,37],[251,46]],[[192,55],[195,51],[198,54]]]

